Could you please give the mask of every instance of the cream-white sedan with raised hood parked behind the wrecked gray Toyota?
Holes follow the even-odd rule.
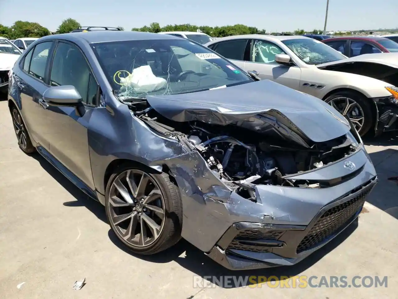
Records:
[[[398,53],[347,58],[304,36],[236,35],[205,44],[244,71],[324,100],[363,136],[398,130]],[[242,99],[244,100],[244,99]]]

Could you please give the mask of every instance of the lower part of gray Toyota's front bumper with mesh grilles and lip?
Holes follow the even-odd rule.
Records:
[[[208,256],[231,270],[297,264],[330,242],[358,217],[376,183],[377,177],[374,177],[324,206],[307,226],[235,223]]]

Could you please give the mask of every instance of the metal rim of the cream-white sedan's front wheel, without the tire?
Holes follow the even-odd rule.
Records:
[[[327,103],[342,115],[347,115],[358,132],[361,130],[365,122],[365,114],[361,106],[355,100],[340,96],[332,98]]]

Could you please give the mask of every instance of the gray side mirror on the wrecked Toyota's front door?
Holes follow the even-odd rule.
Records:
[[[43,93],[43,100],[53,106],[78,106],[82,96],[72,85],[53,86]]]

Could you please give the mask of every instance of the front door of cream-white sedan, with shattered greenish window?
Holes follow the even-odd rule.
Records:
[[[269,79],[296,90],[300,87],[301,69],[298,66],[280,65],[275,61],[275,55],[285,54],[278,45],[254,39],[250,53],[245,71],[254,71],[261,79]]]

